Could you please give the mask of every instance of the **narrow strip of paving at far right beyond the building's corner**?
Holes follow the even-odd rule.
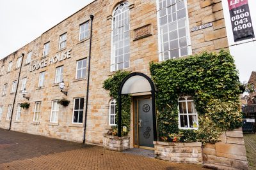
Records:
[[[256,170],[256,134],[244,134],[249,169]]]

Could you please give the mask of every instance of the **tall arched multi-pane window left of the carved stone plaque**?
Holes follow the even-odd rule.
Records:
[[[119,4],[113,13],[111,40],[111,71],[130,66],[129,4]]]

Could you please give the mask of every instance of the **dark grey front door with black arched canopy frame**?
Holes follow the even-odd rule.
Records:
[[[137,97],[136,115],[134,122],[137,122],[139,146],[154,147],[153,140],[157,141],[156,125],[156,87],[153,81],[143,73],[131,73],[124,78],[118,90],[118,136],[121,136],[122,130],[122,95],[139,94]],[[140,94],[149,94],[149,97],[140,97]],[[135,107],[135,106],[134,106]],[[139,140],[140,139],[140,140]]]

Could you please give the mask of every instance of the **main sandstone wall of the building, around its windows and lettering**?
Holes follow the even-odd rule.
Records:
[[[70,141],[83,141],[83,124],[72,124],[74,98],[86,97],[86,78],[76,79],[76,62],[89,55],[90,38],[79,41],[79,25],[90,20],[94,15],[92,30],[92,59],[90,72],[90,87],[88,94],[88,115],[86,120],[86,143],[102,145],[102,133],[107,132],[109,126],[109,92],[102,88],[102,83],[113,72],[110,71],[111,63],[111,23],[112,13],[115,7],[122,1],[93,1],[83,9],[66,18],[60,24],[54,25],[41,36],[23,46],[16,52],[0,60],[0,67],[4,66],[4,73],[0,76],[0,106],[3,106],[0,127],[8,129],[10,120],[6,120],[8,105],[13,105],[13,131],[28,132],[60,138]],[[131,0],[127,1],[130,8],[130,67],[126,71],[140,72],[150,76],[149,62],[159,61],[158,36],[157,36],[157,1],[153,0]],[[223,10],[220,0],[188,0],[189,30],[192,27],[212,22],[212,27],[190,31],[192,53],[202,51],[218,51],[227,48],[227,34],[223,19]],[[134,30],[145,25],[150,25],[148,36],[134,41]],[[67,32],[67,47],[59,50],[60,35]],[[50,42],[49,55],[43,57],[44,44]],[[35,71],[29,71],[31,65],[40,60],[47,59],[71,50],[70,58],[58,61]],[[32,61],[25,64],[28,52],[32,52]],[[25,54],[21,71],[16,68],[17,58]],[[12,61],[13,66],[7,73],[8,63]],[[58,83],[54,83],[56,67],[63,66],[63,79],[68,96],[60,92]],[[12,82],[20,80],[17,89],[17,96],[13,104],[15,93],[11,93]],[[45,85],[38,88],[38,77],[42,71],[45,72]],[[21,80],[27,77],[26,90],[29,96],[30,107],[22,110],[20,120],[16,121],[17,104],[27,102],[22,97]],[[2,96],[3,85],[7,84],[6,95]],[[58,112],[58,123],[51,123],[52,100],[66,97],[70,104],[67,107],[60,106]],[[35,102],[41,101],[42,106],[39,115],[39,122],[33,122]],[[131,126],[132,127],[132,126]],[[132,132],[132,130],[131,130]],[[132,141],[131,141],[132,143]]]

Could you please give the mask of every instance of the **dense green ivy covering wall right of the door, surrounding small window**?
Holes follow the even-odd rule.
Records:
[[[157,86],[159,137],[182,134],[182,140],[216,143],[223,131],[241,126],[239,78],[230,53],[204,52],[188,58],[151,62],[152,80]],[[198,113],[198,130],[178,127],[178,98],[193,96]]]

